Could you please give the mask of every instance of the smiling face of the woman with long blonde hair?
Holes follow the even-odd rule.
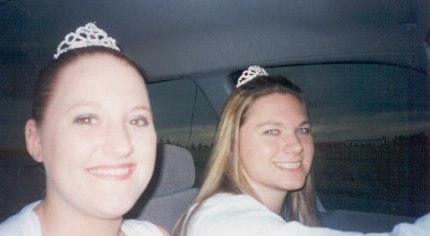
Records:
[[[291,94],[270,94],[249,108],[240,128],[240,166],[262,198],[301,188],[314,154],[306,107]]]

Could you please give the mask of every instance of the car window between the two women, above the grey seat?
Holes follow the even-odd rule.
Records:
[[[160,143],[185,147],[193,154],[196,186],[200,186],[218,116],[198,86],[181,79],[148,85]]]

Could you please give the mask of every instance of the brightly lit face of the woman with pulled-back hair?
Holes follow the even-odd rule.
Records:
[[[121,217],[153,172],[156,134],[142,77],[106,54],[60,74],[40,130],[48,201]]]

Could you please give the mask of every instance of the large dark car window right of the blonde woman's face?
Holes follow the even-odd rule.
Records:
[[[430,210],[429,87],[393,65],[269,68],[305,93],[316,144],[313,177],[324,206],[392,215]]]

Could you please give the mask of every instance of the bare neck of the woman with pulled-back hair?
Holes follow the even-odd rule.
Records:
[[[122,218],[101,219],[76,211],[71,207],[50,204],[47,199],[34,210],[40,221],[43,236],[103,235],[122,236]]]

